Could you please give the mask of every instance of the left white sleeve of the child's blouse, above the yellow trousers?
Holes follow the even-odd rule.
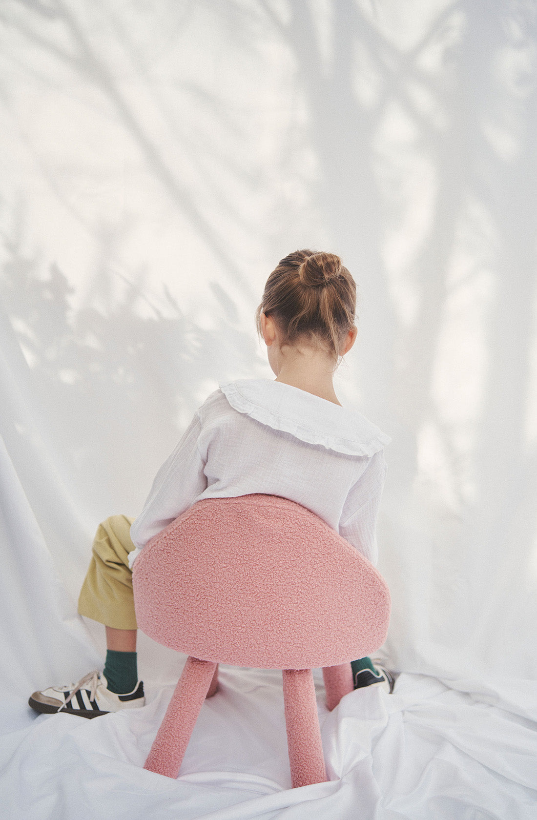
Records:
[[[153,535],[191,507],[206,489],[205,463],[198,450],[201,430],[199,414],[196,413],[183,438],[157,472],[143,510],[130,527],[130,538],[136,547],[134,553],[129,555],[130,567]]]

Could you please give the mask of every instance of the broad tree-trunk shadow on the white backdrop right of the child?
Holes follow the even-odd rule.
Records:
[[[269,8],[269,3],[264,5]],[[535,11],[516,4],[503,14],[489,14],[476,3],[449,3],[419,42],[402,53],[380,35],[357,3],[345,0],[333,7],[334,50],[327,62],[316,37],[312,5],[292,2],[289,8],[289,24],[280,30],[294,48],[307,96],[310,134],[322,171],[319,204],[345,258],[352,260],[351,269],[363,271],[362,284],[374,298],[364,324],[375,330],[366,335],[360,365],[368,402],[375,408],[374,417],[383,417],[389,407],[401,423],[398,453],[390,466],[395,472],[392,502],[399,512],[392,537],[403,549],[401,576],[390,573],[390,585],[403,610],[405,599],[409,608],[416,607],[412,597],[425,579],[430,591],[422,614],[430,622],[431,640],[453,645],[463,634],[468,648],[479,654],[480,647],[508,642],[517,630],[520,612],[512,621],[507,615],[498,626],[498,601],[507,590],[518,586],[528,604],[535,590],[535,573],[529,570],[535,550],[531,498],[537,453],[535,444],[529,448],[525,441],[537,284],[537,194],[535,185],[527,185],[527,180],[537,179],[531,136],[537,126]],[[443,48],[443,76],[423,67],[422,57],[435,44]],[[353,62],[357,52],[366,74],[374,77],[375,103],[370,99],[364,105],[358,98]],[[480,78],[479,84],[471,82],[474,77]],[[380,136],[394,109],[407,132],[403,130],[398,144]],[[360,149],[349,151],[353,144]],[[412,163],[421,171],[420,154],[428,157],[435,175],[435,199],[421,247],[407,270],[399,268],[408,287],[419,294],[412,320],[402,321],[390,287],[385,245],[394,218],[404,216],[404,203],[396,194],[390,213],[386,194],[390,184],[396,191],[403,188]],[[477,241],[466,276],[453,280],[453,255],[461,244],[464,221],[471,221],[471,207],[485,219],[472,225]],[[483,253],[480,245],[487,242],[489,252]],[[479,412],[471,420],[473,442],[470,451],[462,453],[457,424],[443,418],[435,383],[441,335],[457,289],[467,288],[472,277],[477,280],[483,266],[490,274],[485,294],[489,306],[476,335],[482,333],[487,362]],[[479,290],[476,294],[479,298]],[[456,394],[460,386],[454,373],[449,388]],[[466,460],[472,462],[474,487],[467,499],[457,499],[444,513],[448,538],[440,536],[439,544],[433,538],[431,544],[427,533],[425,550],[417,549],[414,573],[405,578],[416,548],[406,510],[412,508],[416,490],[413,479],[420,471],[424,426],[435,428],[448,483],[464,483]],[[453,541],[458,550],[449,549]],[[503,543],[499,553],[498,543]],[[435,606],[439,601],[443,605]],[[435,609],[442,613],[436,622]],[[446,610],[452,617],[446,619]],[[392,628],[394,655],[396,644],[408,640],[406,618],[401,629],[398,626]],[[420,630],[422,637],[427,634],[426,623]],[[407,650],[410,657],[408,645]]]

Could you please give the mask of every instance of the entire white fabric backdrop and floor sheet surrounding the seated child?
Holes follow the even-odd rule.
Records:
[[[523,0],[2,3],[10,818],[535,816],[535,18]],[[277,676],[225,669],[163,781],[139,767],[184,658],[142,637],[130,716],[26,699],[102,664],[75,607],[93,531],[139,512],[218,381],[271,376],[253,312],[307,246],[360,289],[339,397],[393,438],[383,654],[402,675],[330,715],[319,684],[334,779],[290,791]]]

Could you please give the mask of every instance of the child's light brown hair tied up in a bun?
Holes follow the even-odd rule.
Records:
[[[348,331],[354,326],[356,283],[334,253],[294,251],[280,260],[266,280],[256,312],[261,333],[262,313],[271,316],[282,344],[307,337],[321,344],[337,361]]]

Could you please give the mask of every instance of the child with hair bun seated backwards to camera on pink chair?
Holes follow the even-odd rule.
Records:
[[[93,542],[79,612],[106,626],[107,658],[71,686],[34,692],[38,712],[97,717],[143,706],[138,680],[131,568],[144,544],[200,499],[280,495],[323,518],[376,561],[375,520],[389,438],[334,393],[339,358],[353,347],[356,285],[332,253],[296,251],[266,282],[257,329],[276,379],[239,380],[199,408],[158,471],[138,518],[113,516]],[[353,661],[355,689],[389,672]]]

